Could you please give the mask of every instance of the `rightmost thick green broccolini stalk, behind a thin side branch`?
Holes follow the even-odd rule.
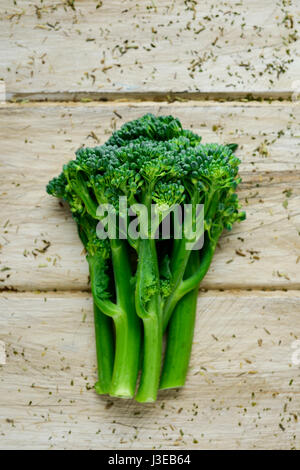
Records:
[[[197,253],[198,254],[198,253]],[[186,274],[199,267],[199,256],[191,256]],[[181,387],[187,375],[196,319],[198,286],[178,302],[169,322],[160,389]]]

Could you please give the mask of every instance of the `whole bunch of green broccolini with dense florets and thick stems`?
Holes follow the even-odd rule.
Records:
[[[123,125],[104,145],[79,149],[48,184],[49,194],[69,204],[87,253],[99,394],[151,402],[158,389],[184,385],[199,283],[224,228],[245,217],[236,195],[235,149],[235,144],[201,144],[178,119],[147,114]],[[140,236],[133,237],[127,209],[141,204],[149,224],[140,222]],[[153,237],[153,204],[156,233],[167,217],[172,227],[178,222],[172,206],[188,205],[195,222],[196,207],[203,204],[203,246],[188,249],[191,239],[184,230],[181,237]],[[99,221],[107,228],[98,209],[103,205],[118,215],[116,236],[97,235]],[[195,247],[198,242],[192,239]]]

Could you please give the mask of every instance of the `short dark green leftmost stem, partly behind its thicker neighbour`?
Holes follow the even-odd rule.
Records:
[[[109,393],[110,390],[114,363],[113,327],[111,319],[101,312],[95,302],[94,320],[98,364],[98,382],[95,389],[101,395]]]

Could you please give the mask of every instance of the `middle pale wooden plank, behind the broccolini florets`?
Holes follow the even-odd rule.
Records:
[[[239,195],[247,220],[222,237],[203,287],[299,288],[299,109],[213,103],[2,107],[1,286],[88,289],[76,227],[45,186],[80,145],[103,142],[122,122],[154,112],[178,116],[188,128],[194,123],[204,141],[240,144]]]

